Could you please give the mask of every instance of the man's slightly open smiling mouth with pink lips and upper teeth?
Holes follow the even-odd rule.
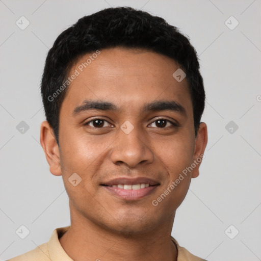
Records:
[[[101,186],[118,198],[138,200],[151,194],[160,183],[149,178],[117,178]]]

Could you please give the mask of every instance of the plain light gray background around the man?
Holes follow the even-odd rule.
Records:
[[[260,0],[0,0],[0,259],[31,250],[55,228],[70,224],[62,177],[50,174],[39,143],[45,119],[39,84],[48,49],[82,16],[132,6],[162,16],[190,37],[206,90],[205,159],[177,210],[172,236],[208,260],[261,260],[260,5]],[[24,30],[16,25],[21,16],[30,21]],[[239,22],[233,30],[236,20],[230,16]],[[23,134],[16,128],[21,121],[29,125]],[[239,128],[226,127],[230,121]],[[30,230],[23,240],[15,232],[21,225]]]

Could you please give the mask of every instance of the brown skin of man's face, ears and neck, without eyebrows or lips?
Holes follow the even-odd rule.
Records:
[[[89,56],[81,57],[70,75]],[[68,87],[59,118],[60,147],[53,129],[42,123],[40,141],[50,172],[62,175],[69,196],[71,227],[59,240],[72,259],[176,260],[170,240],[175,212],[191,178],[199,175],[200,164],[157,206],[151,202],[200,158],[207,143],[205,123],[195,137],[188,82],[185,78],[179,83],[172,76],[178,68],[174,60],[152,51],[101,50]],[[73,116],[85,99],[109,101],[120,110],[89,110]],[[174,100],[186,114],[142,112],[145,103],[155,100]],[[95,128],[90,122],[95,118],[106,121]],[[178,126],[157,125],[159,118]],[[125,121],[134,126],[129,134],[120,128]],[[76,187],[68,181],[72,173],[82,178]],[[140,176],[160,185],[138,200],[124,200],[100,185],[116,177]]]

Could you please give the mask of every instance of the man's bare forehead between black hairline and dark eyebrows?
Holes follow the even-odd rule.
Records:
[[[68,76],[76,76],[62,107],[66,104],[73,111],[84,100],[94,99],[134,110],[148,101],[174,99],[186,110],[192,108],[186,78],[178,82],[173,77],[180,68],[173,59],[144,49],[116,47],[99,52],[82,56],[72,66]]]

